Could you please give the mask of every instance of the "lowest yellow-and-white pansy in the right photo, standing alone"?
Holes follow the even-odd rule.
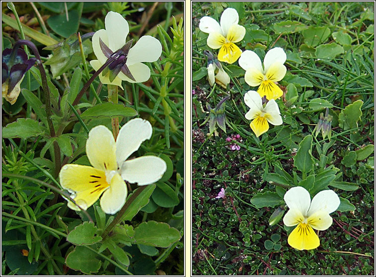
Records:
[[[284,196],[289,210],[283,217],[286,226],[296,226],[287,242],[298,250],[311,250],[320,245],[320,240],[313,229],[326,230],[333,219],[329,213],[335,211],[341,201],[332,190],[317,193],[311,202],[310,193],[303,187],[289,189]]]

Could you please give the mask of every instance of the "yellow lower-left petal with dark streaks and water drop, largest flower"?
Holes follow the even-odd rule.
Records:
[[[91,166],[66,164],[59,173],[60,183],[72,193],[72,198],[82,209],[93,205],[109,184],[105,172]],[[68,200],[68,207],[80,210]]]

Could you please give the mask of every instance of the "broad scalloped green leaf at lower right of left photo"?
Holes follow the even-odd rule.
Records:
[[[137,244],[167,248],[181,239],[180,232],[164,222],[142,222],[134,229]]]

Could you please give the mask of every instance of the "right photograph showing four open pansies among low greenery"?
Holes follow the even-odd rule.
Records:
[[[192,275],[374,274],[374,3],[191,12]]]

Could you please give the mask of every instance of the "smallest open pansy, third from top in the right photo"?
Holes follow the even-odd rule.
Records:
[[[250,127],[256,137],[269,130],[268,122],[273,125],[283,123],[278,104],[274,99],[268,101],[263,107],[261,96],[257,91],[250,90],[244,95],[244,102],[250,108],[246,113],[246,119],[252,120]]]

